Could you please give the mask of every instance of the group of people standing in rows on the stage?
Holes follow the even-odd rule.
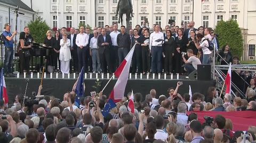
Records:
[[[210,64],[214,44],[218,51],[218,38],[211,28],[194,28],[195,22],[190,21],[187,29],[179,26],[165,26],[164,31],[158,24],[149,30],[145,22],[134,29],[126,30],[125,26],[106,25],[105,28],[90,28],[83,26],[79,29],[62,27],[61,30],[48,30],[43,47],[46,49],[47,72],[85,72],[114,73],[127,53],[135,45],[131,64],[132,73],[180,73],[189,74],[197,69],[198,64]],[[118,30],[120,28],[120,30]],[[129,31],[129,33],[127,32]],[[11,72],[13,52],[13,34],[10,24],[5,24],[4,36],[5,73]],[[54,36],[53,36],[54,35]],[[20,60],[20,72],[30,72],[31,48],[34,39],[28,27],[20,33],[17,53]],[[218,58],[221,64],[232,62],[233,57],[228,45],[222,48]]]

